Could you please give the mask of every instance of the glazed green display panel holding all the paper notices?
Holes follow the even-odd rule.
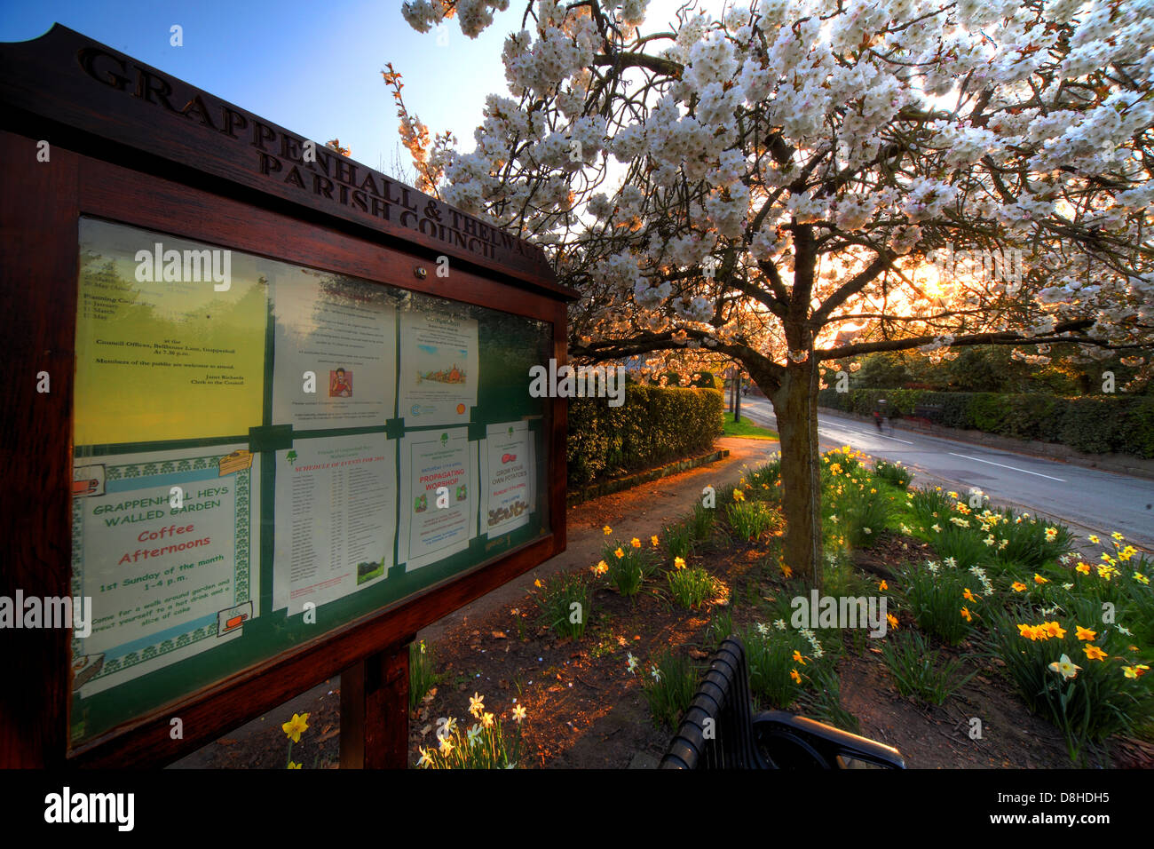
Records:
[[[82,217],[72,742],[549,533],[552,325]]]

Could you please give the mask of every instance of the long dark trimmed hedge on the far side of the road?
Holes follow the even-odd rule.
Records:
[[[869,415],[878,399],[902,416],[915,407],[939,407],[937,423],[1014,439],[1059,442],[1087,454],[1154,457],[1154,397],[1144,395],[1003,395],[924,389],[822,389],[818,403]]]

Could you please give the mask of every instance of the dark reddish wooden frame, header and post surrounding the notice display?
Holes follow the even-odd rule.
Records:
[[[122,79],[136,79],[135,89],[97,79],[120,76],[120,69]],[[190,105],[187,112],[171,109],[174,91]],[[165,92],[167,105],[157,104]],[[239,144],[222,127],[210,128],[211,119],[189,120],[197,110],[231,113],[234,125],[253,128],[253,141]],[[27,595],[72,594],[68,514],[82,215],[530,316],[552,325],[553,356],[565,362],[565,305],[575,293],[555,282],[539,248],[344,157],[338,157],[340,176],[355,173],[395,201],[391,218],[382,217],[390,206],[384,200],[368,204],[374,215],[335,201],[331,188],[325,196],[331,178],[315,184],[317,193],[286,186],[277,172],[260,167],[261,144],[277,139],[287,151],[284,170],[299,150],[286,141],[293,139],[286,131],[67,28],[0,45],[0,291],[7,303],[0,311],[7,408],[0,419],[6,470],[0,515],[7,526],[0,595],[13,597],[17,588]],[[37,156],[43,141],[47,162]],[[331,151],[323,155],[336,162]],[[456,226],[447,234],[436,229],[439,221]],[[434,273],[443,255],[451,262],[447,278]],[[42,372],[50,375],[48,393],[37,392]],[[413,635],[565,548],[564,399],[553,399],[547,409],[547,535],[72,750],[70,632],[0,632],[0,766],[159,766],[338,673],[342,766],[404,766]],[[172,716],[182,721],[182,739],[170,736]]]

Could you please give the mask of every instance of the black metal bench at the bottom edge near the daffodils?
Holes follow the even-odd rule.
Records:
[[[785,710],[752,713],[745,647],[722,641],[661,769],[905,769],[897,749]]]

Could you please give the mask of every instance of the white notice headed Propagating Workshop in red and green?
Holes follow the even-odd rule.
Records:
[[[410,433],[400,440],[400,535],[405,571],[464,551],[477,535],[477,444],[465,427]]]

